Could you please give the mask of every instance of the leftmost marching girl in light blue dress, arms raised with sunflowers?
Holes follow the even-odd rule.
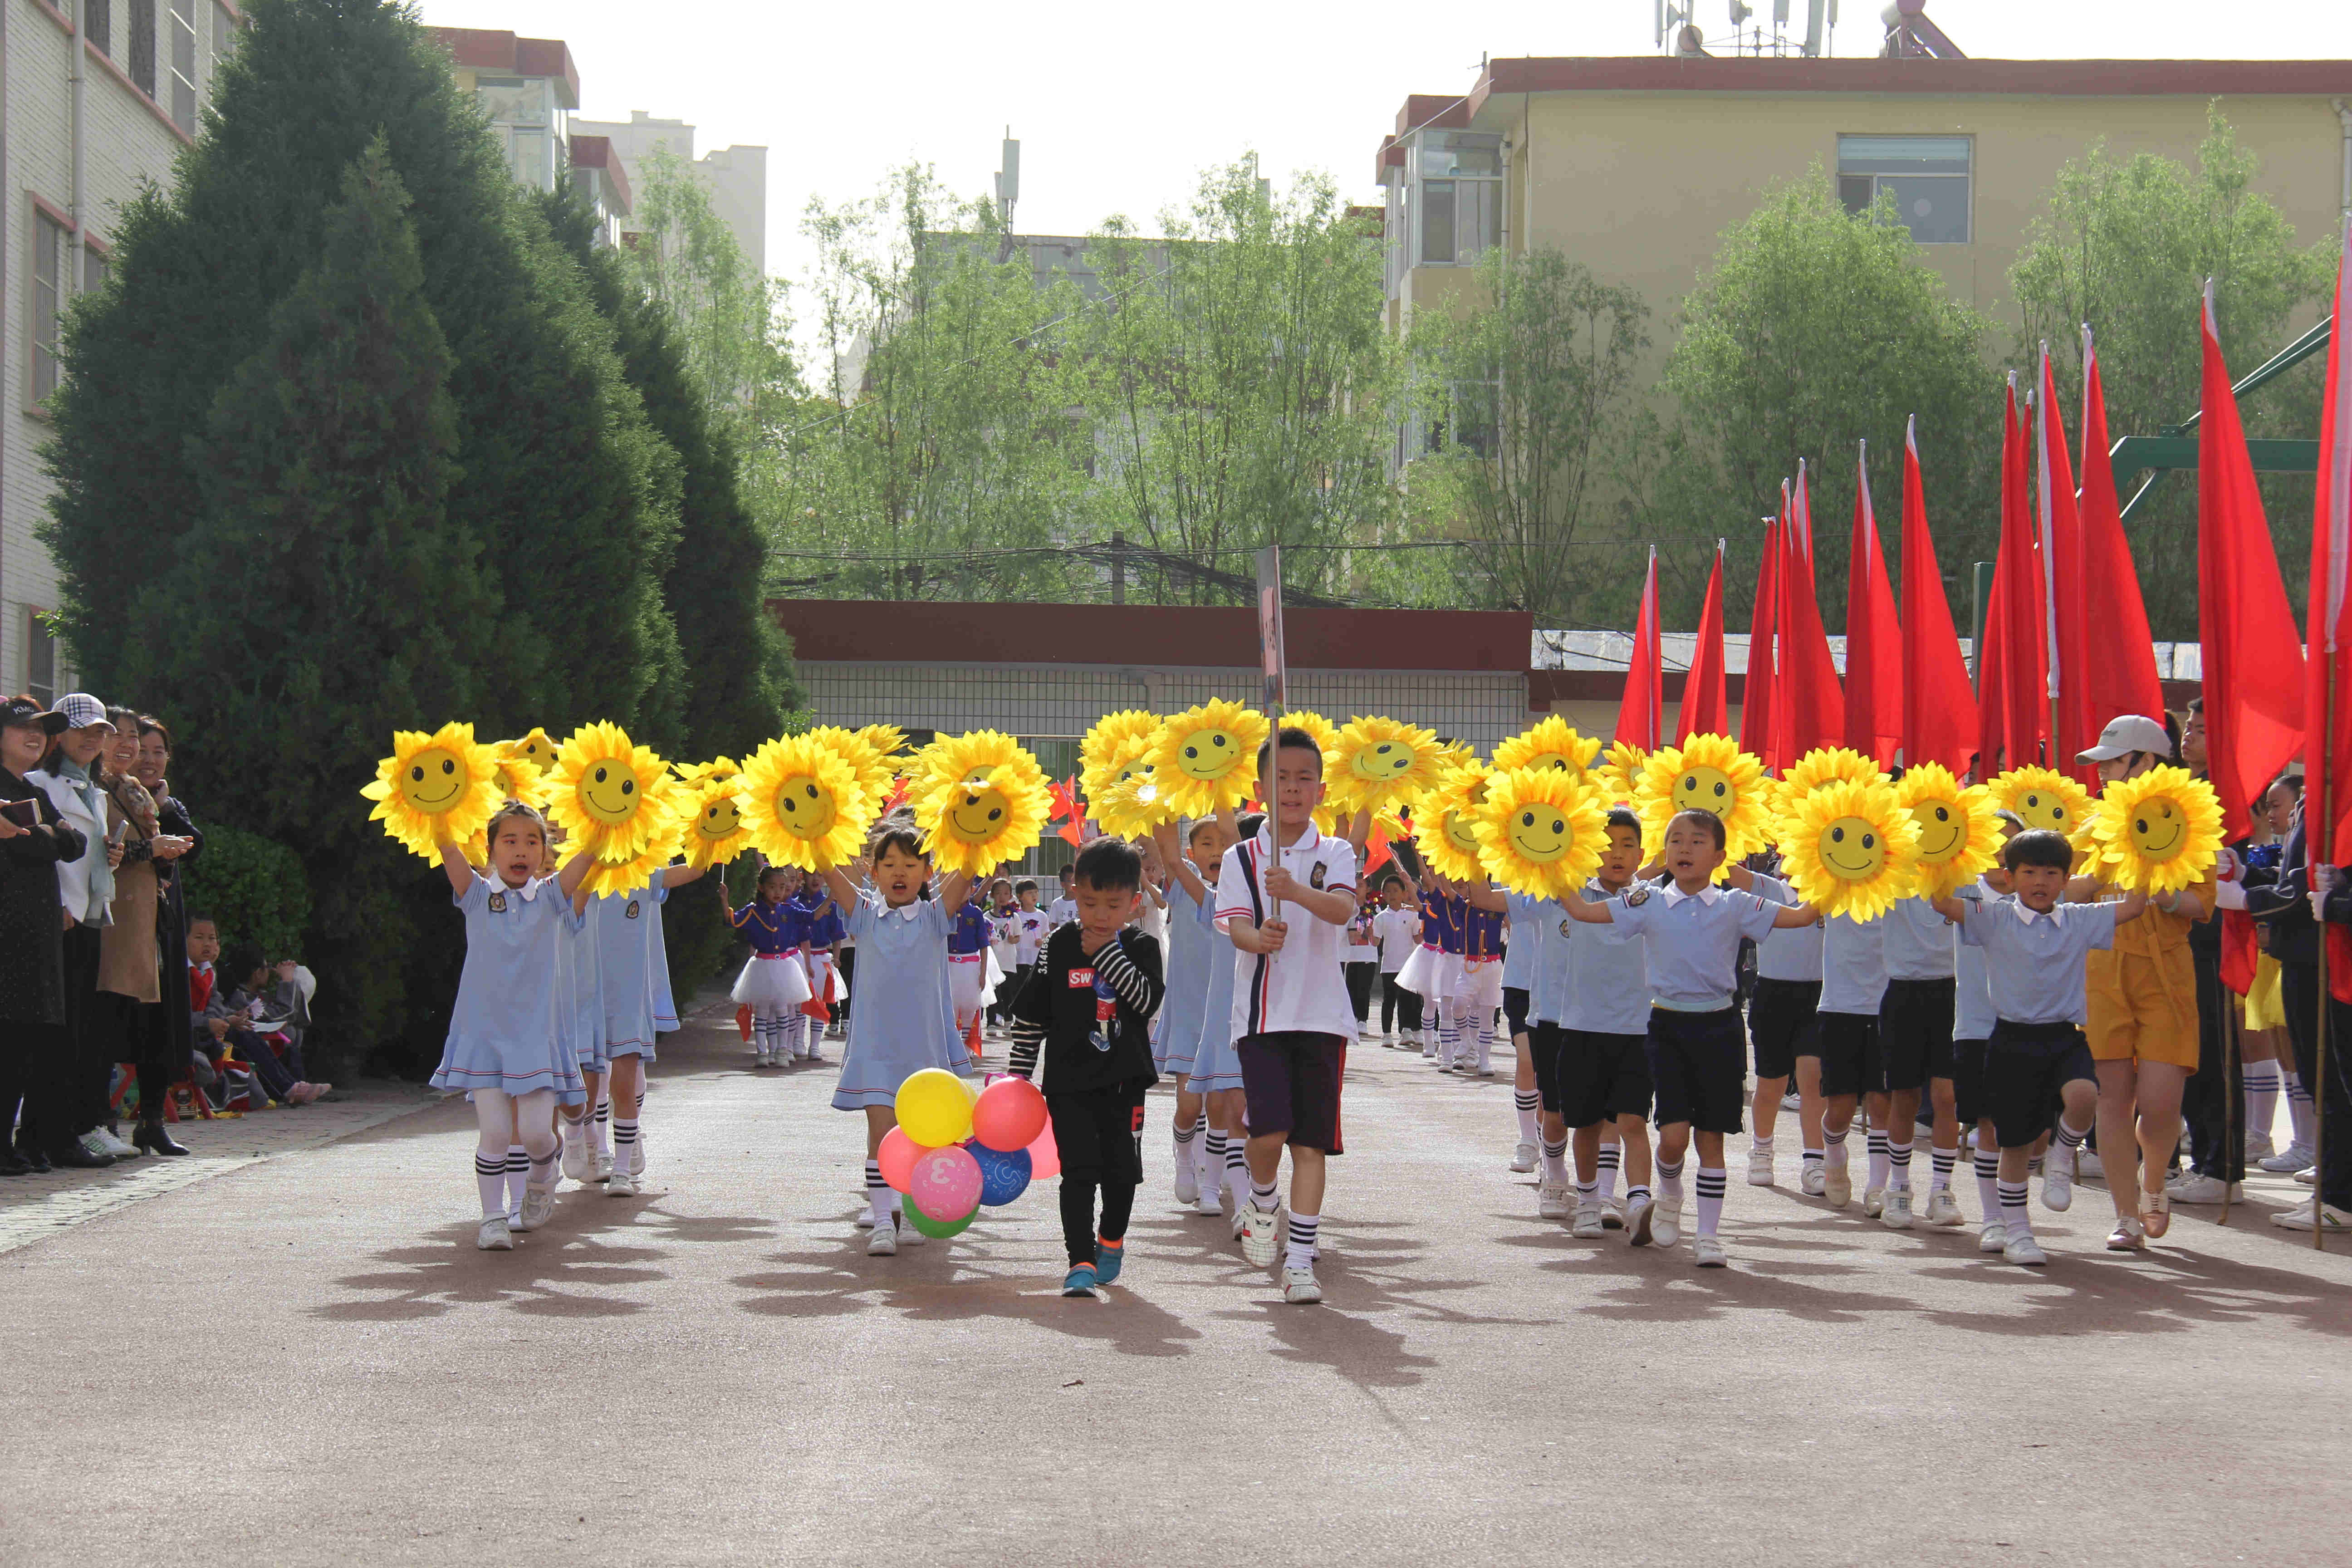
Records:
[[[593,860],[572,856],[555,877],[541,877],[548,825],[517,802],[489,818],[485,837],[487,872],[466,863],[461,844],[440,846],[454,903],[466,912],[466,973],[433,1088],[473,1093],[480,1121],[473,1175],[482,1194],[475,1246],[508,1251],[515,1229],[539,1229],[555,1213],[555,1107],[586,1100],[564,1020],[572,997],[557,985],[555,954],[564,924],[581,922],[579,886]],[[506,1150],[515,1135],[529,1178],[522,1215],[508,1225]]]

